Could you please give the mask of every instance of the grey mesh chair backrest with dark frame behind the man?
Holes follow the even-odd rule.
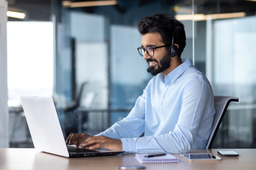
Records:
[[[213,141],[220,127],[220,123],[226,113],[230,102],[238,102],[238,97],[214,96],[214,107],[216,113],[213,117],[212,131],[206,149],[212,148]]]

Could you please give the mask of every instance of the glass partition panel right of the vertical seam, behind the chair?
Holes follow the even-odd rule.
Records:
[[[213,148],[256,144],[255,5],[253,1],[195,2],[195,63],[205,66],[201,71],[214,95],[239,97],[238,103],[230,103]]]

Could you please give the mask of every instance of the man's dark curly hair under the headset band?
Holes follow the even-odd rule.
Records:
[[[186,34],[184,25],[168,14],[156,14],[152,17],[144,17],[139,21],[138,30],[141,35],[147,33],[160,33],[164,44],[172,44],[172,32],[174,29],[174,44],[179,45],[178,56],[181,56],[186,46]],[[169,47],[167,47],[168,50]]]

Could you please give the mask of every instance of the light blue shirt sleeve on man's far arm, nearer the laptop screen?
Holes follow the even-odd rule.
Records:
[[[147,87],[146,87],[147,88]],[[107,130],[95,135],[103,135],[115,139],[140,136],[145,130],[145,91],[138,97],[135,106],[122,121],[116,122]]]

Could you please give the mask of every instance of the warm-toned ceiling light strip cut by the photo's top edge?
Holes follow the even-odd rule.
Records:
[[[92,6],[106,6],[106,5],[116,5],[116,0],[110,1],[84,1],[84,2],[71,2],[71,1],[62,1],[62,6],[69,8],[78,8],[78,7],[92,7]]]

